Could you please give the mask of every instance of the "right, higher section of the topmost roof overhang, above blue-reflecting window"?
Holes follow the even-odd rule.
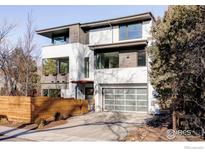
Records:
[[[89,22],[81,24],[81,28],[84,29],[92,29],[92,28],[99,28],[99,27],[106,27],[110,25],[119,25],[124,23],[131,23],[131,22],[137,22],[137,21],[146,21],[146,20],[154,20],[155,18],[152,15],[151,12],[146,12],[142,14],[137,15],[131,15],[131,16],[125,16],[115,19],[108,19],[108,20],[101,20],[101,21],[95,21],[95,22]]]

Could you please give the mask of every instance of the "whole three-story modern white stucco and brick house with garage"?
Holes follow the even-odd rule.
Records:
[[[38,30],[52,42],[42,48],[42,94],[94,98],[96,111],[152,112],[145,48],[153,22],[148,12]]]

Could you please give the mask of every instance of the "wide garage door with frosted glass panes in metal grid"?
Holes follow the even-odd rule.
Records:
[[[105,111],[147,112],[147,88],[103,88]]]

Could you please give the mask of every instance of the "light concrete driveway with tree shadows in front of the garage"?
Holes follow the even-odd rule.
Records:
[[[0,126],[0,134],[4,134],[0,141],[118,141],[149,117],[141,113],[93,112],[71,117],[66,124],[43,130]]]

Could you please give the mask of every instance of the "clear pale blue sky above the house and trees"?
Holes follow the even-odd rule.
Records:
[[[133,6],[0,6],[0,22],[8,20],[17,28],[12,33],[15,42],[25,30],[27,13],[33,13],[36,29],[49,28],[72,23],[84,23],[96,20],[127,16],[143,12],[152,12],[155,17],[163,16],[167,6],[133,5]],[[48,40],[36,36],[39,46],[48,44]]]

